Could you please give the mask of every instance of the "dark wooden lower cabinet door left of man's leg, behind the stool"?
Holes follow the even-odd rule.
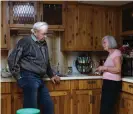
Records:
[[[16,114],[16,111],[20,108],[23,108],[23,95],[22,94],[14,94],[12,96],[12,114]]]

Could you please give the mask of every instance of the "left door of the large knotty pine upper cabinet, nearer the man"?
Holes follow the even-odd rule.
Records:
[[[65,10],[65,36],[61,39],[63,51],[88,51],[92,49],[92,7],[68,5]]]

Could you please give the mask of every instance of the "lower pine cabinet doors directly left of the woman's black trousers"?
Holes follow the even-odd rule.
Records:
[[[99,114],[101,90],[74,90],[72,114]]]

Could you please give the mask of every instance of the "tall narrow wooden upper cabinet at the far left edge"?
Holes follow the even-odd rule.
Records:
[[[1,49],[9,49],[10,32],[8,25],[8,4],[6,1],[1,1]]]

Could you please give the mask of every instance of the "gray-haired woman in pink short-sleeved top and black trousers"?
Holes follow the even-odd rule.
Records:
[[[103,66],[97,68],[103,72],[103,86],[100,114],[114,114],[114,106],[121,90],[121,52],[116,49],[117,43],[113,36],[105,36],[102,46],[109,55]]]

